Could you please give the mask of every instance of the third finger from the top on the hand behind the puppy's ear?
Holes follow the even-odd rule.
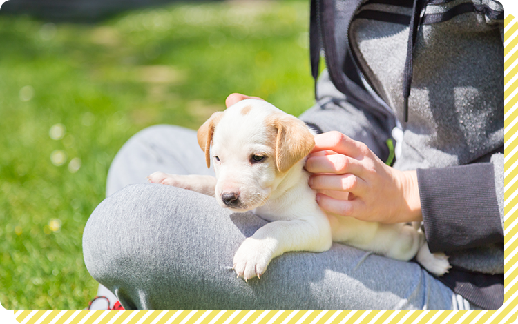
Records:
[[[362,196],[367,183],[354,174],[317,174],[309,178],[309,186],[316,190],[336,190],[352,192]]]

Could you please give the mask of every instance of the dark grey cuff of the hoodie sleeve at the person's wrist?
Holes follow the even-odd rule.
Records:
[[[503,243],[503,154],[488,163],[417,170],[431,252]]]

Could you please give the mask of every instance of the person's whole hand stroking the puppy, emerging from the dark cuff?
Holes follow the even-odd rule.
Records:
[[[315,143],[305,168],[323,210],[363,221],[422,221],[416,171],[391,168],[340,132],[320,134]]]

